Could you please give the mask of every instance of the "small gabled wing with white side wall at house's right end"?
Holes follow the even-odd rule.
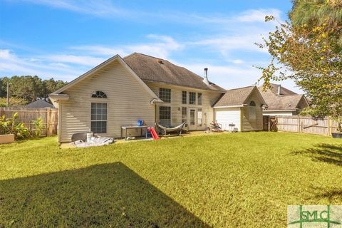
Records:
[[[262,130],[265,106],[257,86],[227,90],[214,105],[215,120],[224,130],[232,130],[229,124],[234,124],[238,131]]]

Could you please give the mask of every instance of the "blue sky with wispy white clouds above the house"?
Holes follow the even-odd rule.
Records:
[[[0,77],[71,81],[133,52],[166,58],[224,88],[254,84],[269,55],[254,45],[291,1],[0,0]],[[296,91],[291,81],[281,82]]]

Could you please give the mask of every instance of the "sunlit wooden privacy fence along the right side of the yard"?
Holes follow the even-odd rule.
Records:
[[[314,119],[301,115],[277,115],[269,119],[270,130],[316,135],[331,135],[336,132],[337,123],[331,118]]]

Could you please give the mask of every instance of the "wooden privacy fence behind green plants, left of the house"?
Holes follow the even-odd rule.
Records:
[[[19,120],[30,131],[34,130],[32,121],[42,118],[45,129],[42,130],[41,136],[57,134],[58,110],[56,108],[0,108],[0,116],[11,118],[14,113],[18,113]]]

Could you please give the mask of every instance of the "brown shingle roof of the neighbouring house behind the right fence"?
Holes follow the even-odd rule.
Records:
[[[266,91],[263,91],[262,86],[260,86],[259,91],[267,103],[267,110],[295,110],[298,108],[299,102],[304,96],[282,86],[281,95],[277,95],[278,85],[276,84],[271,84],[271,88]]]

